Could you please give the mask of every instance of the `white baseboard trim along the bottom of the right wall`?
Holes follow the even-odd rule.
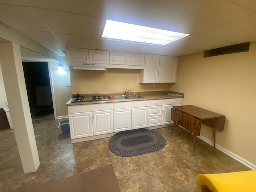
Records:
[[[201,140],[203,140],[204,142],[210,144],[211,146],[214,146],[214,142],[203,137],[203,136],[198,136],[198,138],[200,138]],[[220,150],[221,152],[227,154],[228,156],[232,157],[233,159],[237,160],[238,162],[244,164],[245,166],[247,166],[248,168],[252,169],[252,170],[256,170],[256,165],[252,164],[251,162],[245,160],[244,158],[234,154],[233,152],[223,148],[222,146],[216,144],[215,145],[216,149]]]

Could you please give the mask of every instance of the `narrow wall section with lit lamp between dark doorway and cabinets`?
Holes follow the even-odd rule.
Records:
[[[63,62],[65,74],[59,74],[57,71],[59,62],[50,62],[50,72],[54,90],[57,117],[67,116],[68,107],[66,102],[71,98],[71,88],[66,87],[65,82],[70,82],[69,67]]]

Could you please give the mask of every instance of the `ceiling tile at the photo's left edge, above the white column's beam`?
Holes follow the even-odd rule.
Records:
[[[18,30],[50,32],[28,7],[1,5],[0,20],[4,24]]]

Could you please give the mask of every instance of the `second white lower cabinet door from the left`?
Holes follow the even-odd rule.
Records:
[[[95,111],[93,116],[93,135],[113,132],[113,110]]]

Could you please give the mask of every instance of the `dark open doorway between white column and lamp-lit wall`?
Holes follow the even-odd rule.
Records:
[[[47,62],[22,62],[32,120],[54,119]]]

